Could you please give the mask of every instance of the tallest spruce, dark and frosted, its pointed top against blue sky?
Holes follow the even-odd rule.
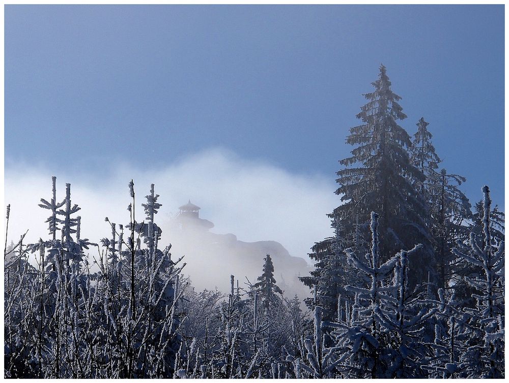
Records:
[[[362,124],[352,127],[346,140],[356,147],[351,157],[340,161],[345,168],[337,172],[336,194],[342,195],[344,203],[331,217],[339,216],[346,231],[352,232],[357,217],[366,222],[371,211],[379,211],[382,257],[422,243],[412,260],[415,273],[410,284],[414,286],[426,280],[435,265],[427,228],[429,207],[411,182],[425,176],[410,161],[406,149],[411,146],[410,136],[397,122],[406,118],[398,104],[401,97],[391,90],[383,65],[373,86],[357,114]]]

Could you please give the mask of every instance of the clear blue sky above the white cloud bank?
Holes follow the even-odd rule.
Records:
[[[383,63],[402,125],[423,116],[467,196],[503,207],[503,7],[8,5],[6,169],[98,178],[221,147],[332,193]]]

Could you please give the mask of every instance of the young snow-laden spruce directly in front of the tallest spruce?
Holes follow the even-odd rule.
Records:
[[[382,263],[378,237],[378,214],[371,216],[372,248],[366,258],[359,260],[353,251],[346,250],[349,260],[363,272],[369,285],[347,286],[356,295],[351,317],[346,322],[338,318],[329,324],[336,347],[342,349],[340,361],[344,377],[423,377],[420,363],[424,351],[419,346],[422,323],[433,311],[422,307],[416,310],[409,302],[408,256],[417,251],[401,251]],[[349,315],[347,315],[348,317]]]

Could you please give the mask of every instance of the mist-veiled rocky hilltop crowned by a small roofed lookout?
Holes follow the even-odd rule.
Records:
[[[179,208],[165,230],[172,242],[173,258],[185,256],[184,275],[189,275],[197,290],[213,289],[222,292],[230,289],[230,275],[240,280],[240,286],[251,283],[261,274],[264,257],[269,253],[274,263],[274,277],[285,296],[297,294],[303,298],[309,290],[298,276],[307,275],[309,267],[300,257],[292,257],[276,241],[243,242],[234,234],[215,234],[209,230],[214,224],[200,218],[200,207],[189,201]]]

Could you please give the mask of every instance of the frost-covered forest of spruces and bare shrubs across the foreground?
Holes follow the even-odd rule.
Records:
[[[37,243],[7,245],[8,205],[5,377],[503,378],[504,213],[482,185],[472,209],[425,118],[409,135],[383,65],[372,85],[308,297],[285,295],[271,254],[253,283],[197,291],[160,246],[153,184],[140,209],[128,183],[126,222],[106,217],[101,239],[56,177]]]

